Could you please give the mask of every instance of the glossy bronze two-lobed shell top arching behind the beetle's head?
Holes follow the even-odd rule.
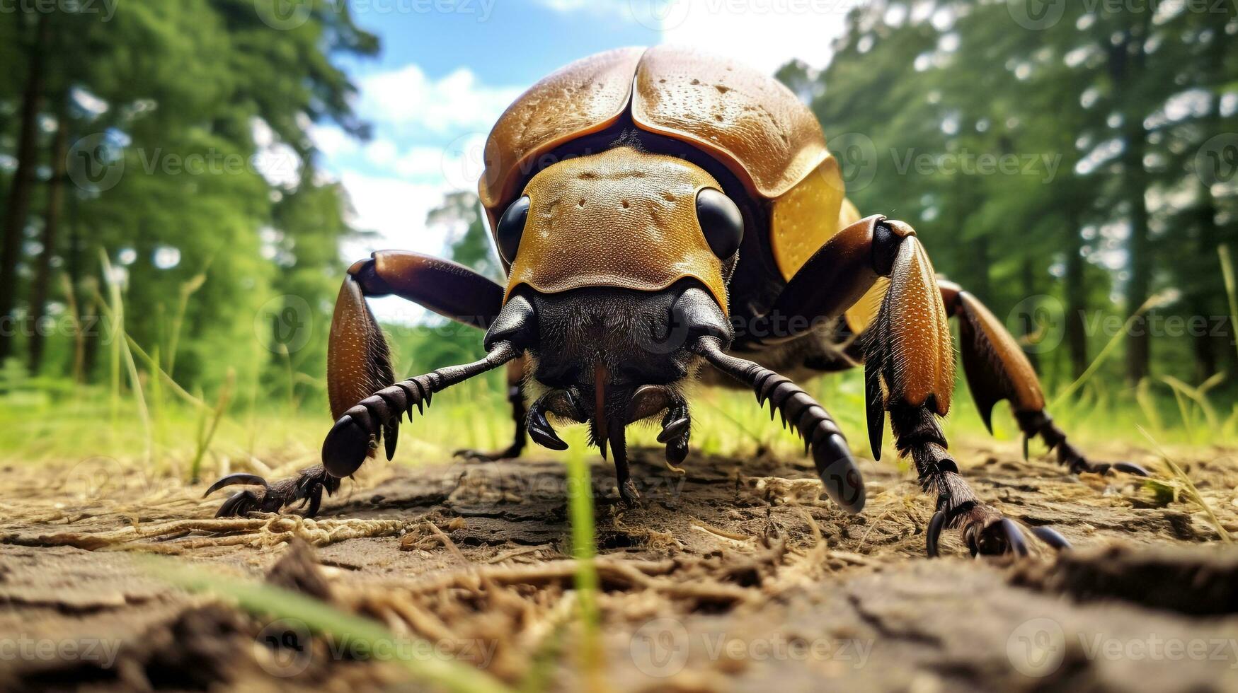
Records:
[[[812,111],[776,79],[690,48],[619,48],[555,72],[499,118],[479,184],[491,220],[539,155],[614,124],[629,105],[639,127],[708,151],[760,198],[780,197],[829,156]]]

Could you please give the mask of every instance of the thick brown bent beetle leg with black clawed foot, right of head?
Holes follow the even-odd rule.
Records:
[[[869,298],[879,307],[873,309]],[[851,311],[857,307],[864,308],[858,312],[863,321],[852,324]],[[937,494],[926,533],[928,554],[936,556],[943,527],[961,530],[979,553],[1023,552],[1021,532],[1011,533],[1018,526],[979,501],[946,450],[937,417],[950,411],[954,356],[942,292],[911,226],[878,215],[834,234],[787,282],[760,334],[796,337],[816,321],[844,312],[848,324],[863,333],[859,344],[873,455],[880,459],[889,412],[899,453],[915,462],[925,491]],[[770,329],[775,325],[771,316],[784,318],[776,323],[786,325],[782,333]]]

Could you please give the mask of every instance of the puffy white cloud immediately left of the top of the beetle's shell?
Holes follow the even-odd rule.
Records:
[[[360,113],[366,118],[402,129],[447,134],[489,132],[524,88],[482,84],[463,67],[435,80],[418,66],[409,64],[361,78],[360,92]]]

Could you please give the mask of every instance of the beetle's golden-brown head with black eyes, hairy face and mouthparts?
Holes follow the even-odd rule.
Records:
[[[682,405],[696,340],[730,343],[725,282],[743,226],[717,179],[683,158],[617,146],[556,162],[495,225],[511,271],[487,346],[530,354],[531,385],[566,394],[548,411],[592,422],[604,442]]]

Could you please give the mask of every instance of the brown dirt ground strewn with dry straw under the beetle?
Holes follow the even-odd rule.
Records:
[[[300,589],[380,620],[392,647],[428,642],[415,656],[526,688],[1238,689],[1238,552],[1197,505],[1013,446],[958,457],[980,497],[1075,551],[976,561],[948,532],[950,557],[926,559],[930,499],[889,459],[863,464],[859,516],[817,500],[806,459],[692,455],[681,475],[638,450],[635,509],[597,460],[603,652],[587,681],[561,463],[371,463],[318,520],[213,520],[224,494],[102,458],[14,467],[0,475],[0,689],[421,688],[300,622],[171,588],[135,561],[145,552]],[[1214,449],[1179,462],[1238,532],[1238,463]]]

